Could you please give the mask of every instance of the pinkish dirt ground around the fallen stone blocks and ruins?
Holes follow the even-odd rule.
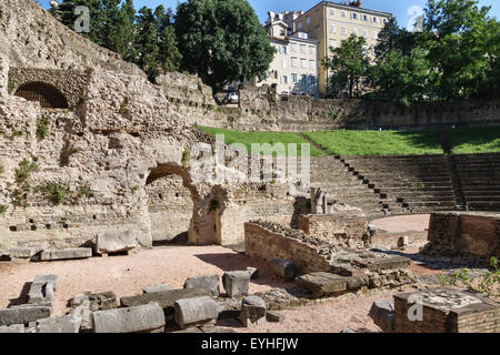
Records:
[[[423,231],[428,227],[428,215],[389,217],[374,221],[386,231],[404,227]],[[83,292],[112,291],[118,297],[142,293],[150,284],[169,284],[176,288],[183,287],[187,277],[218,274],[226,271],[246,270],[247,266],[259,268],[260,277],[252,281],[251,293],[287,284],[276,281],[266,263],[222,246],[166,246],[143,250],[131,256],[92,257],[83,261],[61,261],[49,263],[11,264],[0,263],[0,307],[22,304],[30,282],[36,275],[58,274],[58,290],[54,293],[54,315],[63,315],[69,308],[67,302]],[[412,265],[416,274],[429,271]],[[368,316],[376,300],[390,298],[392,293],[383,293],[358,298],[339,298],[336,302],[284,311],[286,321],[280,324],[267,324],[246,329],[234,321],[220,324],[234,327],[237,332],[286,332],[286,333],[334,333],[344,328],[357,332],[380,332]]]

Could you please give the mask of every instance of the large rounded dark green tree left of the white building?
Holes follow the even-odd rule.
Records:
[[[188,0],[177,8],[176,33],[182,69],[214,91],[229,82],[263,79],[274,54],[246,0]]]

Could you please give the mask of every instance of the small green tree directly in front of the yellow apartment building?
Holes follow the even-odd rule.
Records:
[[[330,47],[330,52],[331,57],[323,62],[331,71],[329,89],[336,95],[347,90],[348,98],[352,99],[354,89],[362,85],[363,79],[369,73],[370,59],[364,38],[351,34],[340,47]]]

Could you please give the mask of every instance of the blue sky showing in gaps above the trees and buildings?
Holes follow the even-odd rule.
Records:
[[[347,0],[346,0],[347,1]],[[147,6],[149,8],[156,8],[159,4],[163,4],[166,8],[176,9],[178,0],[133,0],[137,9]],[[261,22],[267,19],[267,12],[269,10],[283,11],[283,10],[309,10],[314,7],[320,0],[249,0],[250,4],[256,10]],[[43,7],[48,7],[49,0],[41,0],[40,3]],[[412,7],[424,8],[426,0],[362,0],[362,7],[366,9],[379,10],[384,12],[391,12],[398,18],[400,26],[407,26],[412,19],[414,13],[411,13]],[[481,6],[491,6],[490,16],[500,19],[500,1],[498,0],[480,0]],[[408,13],[410,11],[410,13]]]

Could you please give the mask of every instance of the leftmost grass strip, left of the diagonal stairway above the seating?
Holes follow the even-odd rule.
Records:
[[[231,131],[231,130],[214,129],[214,128],[208,128],[208,126],[198,126],[198,129],[200,129],[203,132],[211,134],[211,135],[223,134],[226,144],[242,143],[242,144],[244,144],[244,146],[247,146],[247,150],[249,153],[250,153],[252,143],[261,143],[261,144],[269,143],[271,145],[274,145],[276,143],[282,143],[282,144],[284,144],[284,148],[287,149],[287,154],[288,154],[288,144],[296,143],[297,152],[300,155],[301,154],[301,143],[309,143],[307,140],[304,140],[302,136],[300,136],[299,134],[296,134],[296,133],[241,132],[241,131]],[[316,149],[312,144],[310,145],[310,149],[311,149],[311,156],[326,155],[324,152]]]

